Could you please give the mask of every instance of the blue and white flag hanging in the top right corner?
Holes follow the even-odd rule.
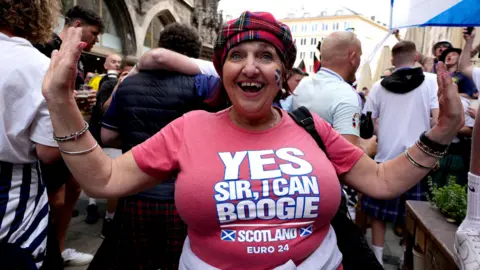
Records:
[[[391,0],[391,29],[480,26],[479,0]]]

